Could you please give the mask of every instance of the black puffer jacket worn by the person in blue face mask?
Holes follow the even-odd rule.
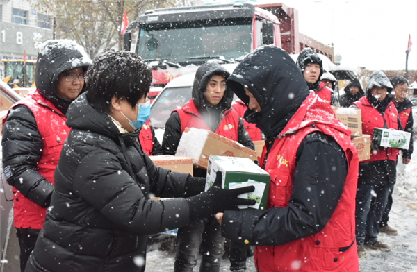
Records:
[[[26,272],[144,271],[148,235],[188,223],[186,199],[170,197],[184,196],[190,175],[156,167],[139,131],[120,134],[85,94],[70,106],[67,125],[51,207]]]

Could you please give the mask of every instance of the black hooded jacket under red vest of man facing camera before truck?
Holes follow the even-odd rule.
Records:
[[[215,132],[221,119],[224,117],[224,112],[230,110],[234,95],[231,90],[227,89],[218,105],[208,106],[206,104],[206,101],[204,100],[206,85],[208,80],[215,74],[222,75],[226,79],[229,77],[229,72],[217,63],[206,63],[200,66],[195,73],[192,91],[192,99],[195,107],[202,115],[202,121],[204,121],[213,132]],[[162,151],[164,154],[175,155],[181,135],[181,120],[179,119],[179,114],[177,112],[172,112],[165,124],[165,133],[162,141]],[[238,125],[238,143],[254,150],[254,144],[247,134],[240,117]]]

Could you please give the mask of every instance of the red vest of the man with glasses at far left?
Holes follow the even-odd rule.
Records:
[[[38,172],[54,184],[54,171],[60,151],[70,133],[65,116],[45,99],[38,90],[24,96],[24,99],[13,105],[26,105],[35,116],[40,136],[42,137],[42,157],[38,162]],[[6,119],[4,119],[6,120]],[[25,198],[13,187],[13,225],[16,228],[40,229],[43,226],[47,208],[42,208]]]

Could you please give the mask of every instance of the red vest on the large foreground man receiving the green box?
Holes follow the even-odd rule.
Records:
[[[288,206],[293,189],[295,153],[304,137],[313,131],[331,136],[345,152],[348,171],[343,193],[322,231],[280,246],[256,246],[255,263],[260,272],[359,270],[354,236],[358,154],[350,140],[350,130],[336,120],[330,105],[313,92],[275,139],[268,154],[265,164],[265,171],[270,173],[267,208]],[[263,165],[265,153],[264,147],[260,165]],[[347,250],[339,249],[349,246]]]

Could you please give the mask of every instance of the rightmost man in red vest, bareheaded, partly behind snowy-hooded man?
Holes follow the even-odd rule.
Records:
[[[411,107],[413,104],[407,96],[408,82],[403,76],[394,76],[390,80],[391,85],[394,88],[393,103],[395,108],[398,111],[398,117],[400,119],[402,130],[411,133],[410,146],[407,150],[402,150],[402,163],[408,164],[411,160],[411,154],[413,153],[413,112],[411,112]],[[392,185],[394,187],[394,185]],[[397,235],[397,230],[388,226],[389,212],[393,205],[393,188],[389,190],[388,201],[386,201],[386,206],[384,209],[384,214],[382,214],[381,223],[379,223],[379,232],[385,232],[387,235]]]

